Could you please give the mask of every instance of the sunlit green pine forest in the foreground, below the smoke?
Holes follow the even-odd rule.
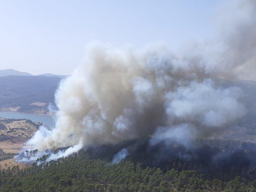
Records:
[[[143,169],[141,163],[132,161],[112,165],[90,159],[83,151],[37,165],[40,161],[24,170],[18,166],[3,169],[0,192],[256,192],[256,180],[249,182],[242,177],[229,182],[205,180],[196,171]]]

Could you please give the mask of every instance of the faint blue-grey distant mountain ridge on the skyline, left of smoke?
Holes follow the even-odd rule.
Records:
[[[0,77],[9,76],[9,75],[16,75],[16,76],[47,76],[47,77],[59,77],[61,79],[66,78],[68,75],[55,75],[52,73],[44,73],[40,75],[32,75],[27,72],[20,72],[14,69],[0,69]]]

